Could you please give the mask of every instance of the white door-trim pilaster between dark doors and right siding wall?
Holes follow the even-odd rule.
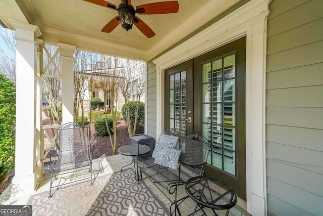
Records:
[[[246,56],[246,143],[247,210],[266,215],[265,171],[265,65],[266,23],[264,13],[251,22],[247,31]],[[248,175],[249,174],[249,175]]]

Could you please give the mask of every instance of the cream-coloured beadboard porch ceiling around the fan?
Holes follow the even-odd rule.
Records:
[[[128,32],[121,26],[112,33],[101,32],[118,12],[83,0],[12,1],[17,8],[10,6],[14,3],[0,0],[0,18],[12,28],[8,19],[22,19],[16,18],[20,9],[20,15],[23,14],[30,24],[39,26],[42,39],[48,44],[63,42],[80,50],[148,61],[239,1],[178,0],[179,12],[176,14],[138,15],[156,33],[152,38],[145,37],[135,26]],[[120,4],[120,0],[109,2]],[[131,4],[151,2],[158,0],[132,0]]]

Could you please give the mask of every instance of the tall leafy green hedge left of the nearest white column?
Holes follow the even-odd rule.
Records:
[[[14,167],[16,86],[0,73],[0,183]]]

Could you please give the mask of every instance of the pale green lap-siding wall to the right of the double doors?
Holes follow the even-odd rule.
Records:
[[[268,215],[323,215],[323,1],[274,0],[270,11]]]

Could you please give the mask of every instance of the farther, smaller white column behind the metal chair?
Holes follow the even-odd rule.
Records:
[[[73,121],[74,113],[74,51],[73,45],[58,43],[61,51],[63,124]]]

